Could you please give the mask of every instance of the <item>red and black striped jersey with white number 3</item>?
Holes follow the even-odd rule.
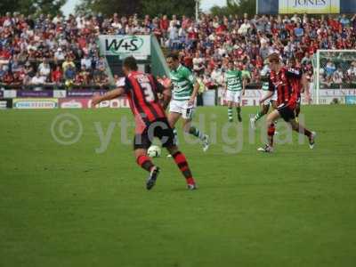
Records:
[[[125,77],[124,88],[136,123],[140,119],[148,126],[159,118],[166,117],[165,110],[158,101],[158,93],[163,93],[164,87],[155,77],[133,71]]]

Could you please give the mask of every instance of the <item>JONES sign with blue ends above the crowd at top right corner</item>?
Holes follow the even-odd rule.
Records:
[[[355,0],[257,0],[258,14],[329,14],[356,12]]]

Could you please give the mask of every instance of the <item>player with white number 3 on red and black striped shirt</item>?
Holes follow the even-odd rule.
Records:
[[[155,77],[137,71],[137,63],[134,57],[125,58],[123,70],[125,73],[125,85],[105,93],[103,96],[93,97],[93,106],[101,101],[108,101],[126,94],[133,111],[136,129],[134,135],[134,155],[136,162],[144,170],[150,173],[146,182],[147,190],[155,185],[159,174],[159,167],[155,166],[147,156],[154,137],[157,137],[162,146],[174,158],[175,164],[181,170],[186,179],[188,189],[197,189],[193,176],[190,172],[187,159],[174,144],[174,133],[169,125],[166,113],[158,101],[158,93],[163,93],[164,99],[168,99],[170,90],[160,85]],[[167,103],[166,103],[167,104]]]

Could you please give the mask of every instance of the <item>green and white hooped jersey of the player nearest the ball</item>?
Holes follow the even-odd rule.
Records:
[[[175,101],[190,100],[191,93],[193,93],[193,86],[196,83],[196,78],[191,71],[179,65],[175,70],[171,70],[169,76],[173,85],[173,99]]]

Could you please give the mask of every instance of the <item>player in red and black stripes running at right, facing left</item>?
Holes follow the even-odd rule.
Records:
[[[258,149],[263,152],[273,151],[273,135],[275,134],[275,127],[273,122],[279,117],[282,117],[288,124],[292,126],[292,129],[299,134],[304,134],[309,139],[310,148],[314,148],[314,140],[316,133],[311,132],[304,128],[295,121],[295,105],[297,100],[297,89],[294,86],[295,79],[301,79],[302,73],[297,69],[287,69],[282,67],[279,54],[271,53],[269,56],[271,77],[269,78],[269,93],[260,101],[261,103],[276,91],[278,100],[277,109],[273,110],[267,116],[267,126],[268,126],[268,144],[263,148]]]

